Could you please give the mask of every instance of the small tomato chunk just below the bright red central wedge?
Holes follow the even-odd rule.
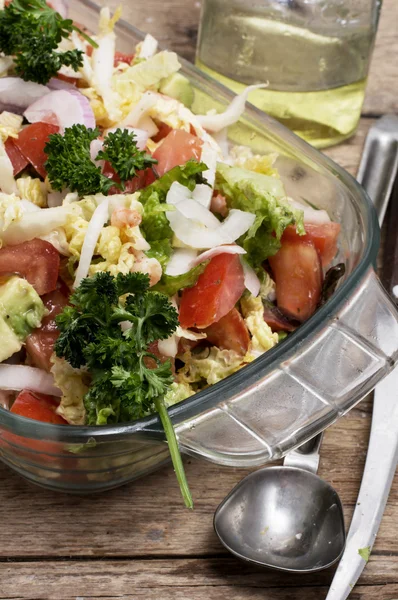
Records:
[[[234,350],[238,354],[246,354],[250,336],[246,323],[240,312],[234,307],[225,317],[204,330],[207,341],[222,350]]]

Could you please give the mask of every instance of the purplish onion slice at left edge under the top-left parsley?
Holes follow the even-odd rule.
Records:
[[[0,78],[0,111],[8,110],[21,115],[32,102],[36,102],[50,93],[50,89],[34,83],[24,81],[19,77]]]

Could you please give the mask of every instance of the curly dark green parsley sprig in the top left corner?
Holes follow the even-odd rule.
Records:
[[[45,0],[13,0],[0,11],[0,52],[14,57],[15,71],[22,79],[46,84],[62,66],[77,71],[83,65],[81,50],[58,51],[59,43],[73,30],[98,47]]]

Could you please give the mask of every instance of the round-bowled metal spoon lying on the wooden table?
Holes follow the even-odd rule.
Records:
[[[223,500],[214,529],[232,554],[297,573],[325,569],[340,558],[345,545],[341,501],[316,475],[322,435],[290,452],[283,466],[251,473]]]

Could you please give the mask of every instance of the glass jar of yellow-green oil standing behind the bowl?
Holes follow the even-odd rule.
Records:
[[[237,93],[268,81],[249,101],[318,148],[348,138],[361,115],[372,28],[298,10],[283,22],[271,4],[206,0],[197,66]]]

